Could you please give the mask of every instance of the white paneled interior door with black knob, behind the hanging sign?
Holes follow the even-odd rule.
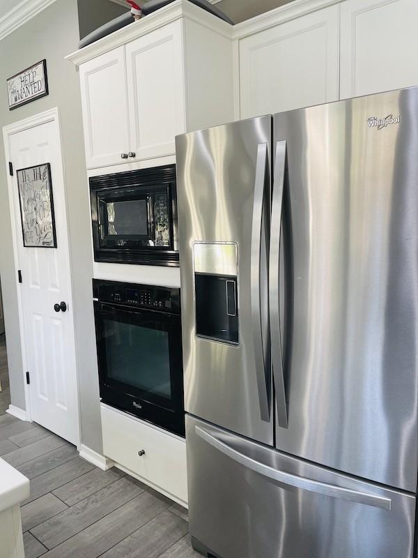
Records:
[[[8,151],[13,164],[10,203],[15,221],[17,265],[22,271],[21,330],[30,375],[31,418],[72,444],[78,444],[75,335],[58,121],[53,119],[8,135]],[[18,170],[44,163],[49,163],[51,169],[56,248],[25,248],[17,184],[17,175],[22,173]],[[24,187],[29,189],[29,201],[31,179],[28,172]],[[35,200],[35,194],[32,197]],[[39,214],[40,206],[33,203],[33,209],[36,207]],[[38,220],[38,214],[35,212],[33,218]],[[61,302],[66,303],[67,310],[56,312],[54,305]]]

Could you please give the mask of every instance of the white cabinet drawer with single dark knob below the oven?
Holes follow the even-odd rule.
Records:
[[[101,405],[103,453],[144,483],[187,505],[186,443],[175,435]],[[139,452],[144,451],[144,455]]]

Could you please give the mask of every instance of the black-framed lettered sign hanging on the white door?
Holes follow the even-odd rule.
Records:
[[[51,165],[16,171],[22,218],[23,246],[56,248]]]

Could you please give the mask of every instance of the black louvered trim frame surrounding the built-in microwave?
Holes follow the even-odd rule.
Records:
[[[91,224],[93,229],[93,246],[95,262],[116,264],[143,264],[155,266],[179,266],[178,225],[177,225],[177,189],[176,165],[165,165],[102,176],[91,176]],[[161,191],[167,188],[170,206],[171,246],[132,247],[132,246],[100,246],[98,193],[110,193],[111,190],[142,190],[143,193]]]

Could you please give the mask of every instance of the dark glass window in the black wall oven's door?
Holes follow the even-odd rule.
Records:
[[[104,319],[109,379],[171,399],[169,333]]]

